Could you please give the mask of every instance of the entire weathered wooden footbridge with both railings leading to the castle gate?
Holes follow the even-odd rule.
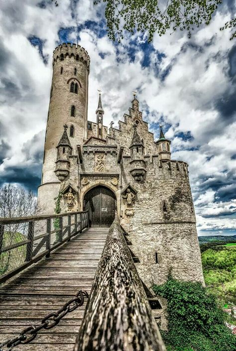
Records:
[[[88,220],[0,219],[0,351],[165,350],[118,217]]]

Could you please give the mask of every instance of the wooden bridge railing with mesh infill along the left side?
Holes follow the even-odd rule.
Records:
[[[88,211],[0,218],[0,283],[88,227]]]

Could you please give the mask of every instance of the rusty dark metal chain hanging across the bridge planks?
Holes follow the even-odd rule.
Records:
[[[89,298],[89,295],[86,291],[80,290],[76,296],[65,303],[65,305],[58,310],[57,312],[51,312],[41,321],[41,324],[38,326],[29,326],[23,329],[19,336],[14,339],[6,340],[0,344],[0,351],[11,351],[15,346],[21,344],[29,344],[31,341],[36,338],[38,332],[41,329],[51,329],[58,325],[60,320],[65,317],[68,313],[75,311],[78,307],[84,304],[84,297]],[[7,349],[2,349],[3,347]]]

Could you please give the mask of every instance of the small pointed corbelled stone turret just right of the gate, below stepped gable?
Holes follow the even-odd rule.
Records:
[[[137,133],[137,126],[133,125],[133,137],[130,144],[130,162],[131,165],[131,175],[136,181],[143,181],[146,175],[146,164],[144,161],[143,151],[144,145],[143,141],[140,139]]]

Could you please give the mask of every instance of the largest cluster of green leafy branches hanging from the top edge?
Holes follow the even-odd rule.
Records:
[[[148,41],[157,32],[160,36],[168,29],[191,31],[202,23],[209,24],[222,0],[95,0],[106,3],[108,36],[123,38],[124,31],[148,33]]]

